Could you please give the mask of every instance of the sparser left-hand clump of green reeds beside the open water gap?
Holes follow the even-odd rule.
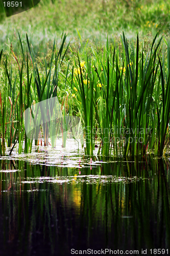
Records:
[[[51,99],[52,97],[57,96],[57,88],[58,88],[58,77],[60,72],[60,67],[63,63],[66,51],[68,49],[69,44],[64,49],[64,44],[66,40],[66,34],[62,35],[61,46],[59,50],[57,49],[57,44],[53,45],[52,56],[50,69],[47,70],[47,63],[45,60],[45,77],[44,73],[39,70],[38,64],[36,62],[36,58],[34,55],[33,48],[31,47],[28,35],[27,38],[27,46],[29,52],[27,52],[25,56],[25,52],[23,50],[22,41],[19,36],[19,42],[21,47],[22,54],[22,64],[20,66],[18,57],[12,50],[11,44],[11,54],[14,57],[17,66],[18,66],[18,74],[16,69],[12,68],[8,70],[8,58],[6,57],[6,61],[4,61],[5,66],[5,75],[4,75],[4,87],[3,92],[0,91],[0,101],[1,101],[1,127],[0,133],[2,143],[0,143],[0,154],[5,155],[5,145],[12,146],[12,143],[18,141],[18,153],[22,152],[23,146],[25,147],[25,153],[30,152],[32,149],[33,138],[28,138],[25,132],[25,126],[23,123],[23,113],[26,109],[34,108],[35,103],[41,102],[42,100]],[[0,60],[2,57],[2,52],[0,55]],[[55,59],[54,59],[55,57]],[[30,61],[29,61],[30,58]],[[30,62],[30,63],[29,63]],[[55,68],[53,68],[55,67]],[[53,68],[53,72],[52,72]],[[17,81],[19,80],[19,87]],[[3,95],[2,95],[3,93]],[[8,100],[9,99],[9,100]],[[40,111],[42,116],[43,123],[43,137],[44,137],[44,145],[48,145],[48,136],[49,133],[54,135],[52,131],[51,122],[49,121],[51,110],[50,106],[47,106],[48,116],[45,116],[42,105],[40,104]],[[29,117],[26,117],[29,120]],[[55,127],[54,127],[55,129]],[[39,127],[37,130],[35,129],[35,135],[39,133]],[[34,137],[34,134],[33,134]],[[53,136],[51,136],[53,138]],[[35,145],[38,144],[38,140],[35,140]],[[52,146],[55,146],[53,141]],[[13,150],[13,147],[12,147]],[[10,152],[11,154],[11,152]]]

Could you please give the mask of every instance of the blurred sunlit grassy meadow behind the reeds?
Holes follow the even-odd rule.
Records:
[[[3,50],[9,50],[11,41],[18,44],[17,31],[22,39],[27,32],[37,51],[43,51],[63,31],[67,41],[76,42],[78,30],[82,40],[89,38],[98,44],[107,34],[109,39],[119,38],[123,30],[129,39],[135,39],[138,32],[140,38],[153,38],[157,31],[168,36],[170,27],[170,2],[161,0],[41,0],[36,7],[11,17],[5,17],[3,6],[1,10]]]

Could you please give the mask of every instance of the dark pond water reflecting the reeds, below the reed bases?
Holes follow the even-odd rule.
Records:
[[[170,253],[169,160],[126,160],[0,160],[0,255]]]

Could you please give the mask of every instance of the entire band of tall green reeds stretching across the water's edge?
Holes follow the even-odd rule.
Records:
[[[124,33],[121,36],[123,50],[119,52],[114,45],[106,46],[101,54],[92,49],[92,56],[82,53],[74,56],[75,67],[69,71],[65,61],[69,44],[64,48],[66,35],[62,37],[57,50],[54,41],[50,67],[46,60],[44,72],[39,68],[27,35],[27,52],[24,52],[19,36],[22,61],[18,61],[18,73],[9,67],[8,58],[1,61],[3,69],[3,88],[0,90],[0,155],[5,155],[5,145],[12,147],[18,142],[18,153],[31,152],[33,137],[27,136],[23,123],[23,113],[35,104],[58,97],[62,113],[61,133],[65,147],[71,115],[81,118],[84,125],[85,153],[93,155],[98,145],[98,154],[145,155],[154,153],[162,156],[169,144],[170,113],[170,42],[165,40],[166,49],[160,51],[162,38],[156,43],[153,39],[151,50],[143,52],[136,44],[129,45]],[[65,74],[60,72],[65,62]],[[63,90],[58,90],[59,80]],[[39,104],[41,113],[42,105]],[[44,145],[53,138],[55,146],[59,122],[50,121],[53,106],[46,106],[46,116],[42,115],[42,129],[34,129],[35,144],[41,136]],[[74,121],[75,122],[75,121]],[[58,125],[58,126],[57,126]],[[57,128],[56,128],[57,127]],[[56,130],[57,129],[57,130]],[[10,152],[11,153],[11,152]]]

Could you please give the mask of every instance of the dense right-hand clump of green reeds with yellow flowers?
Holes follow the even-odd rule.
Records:
[[[166,61],[158,56],[162,37],[156,44],[157,36],[146,56],[143,48],[139,49],[139,36],[134,47],[124,33],[122,56],[118,48],[109,47],[108,40],[101,56],[94,50],[92,60],[86,56],[85,70],[78,55],[75,84],[79,96],[75,101],[82,104],[87,155],[93,154],[94,131],[105,156],[147,152],[162,156],[164,144],[167,148],[169,73]]]

